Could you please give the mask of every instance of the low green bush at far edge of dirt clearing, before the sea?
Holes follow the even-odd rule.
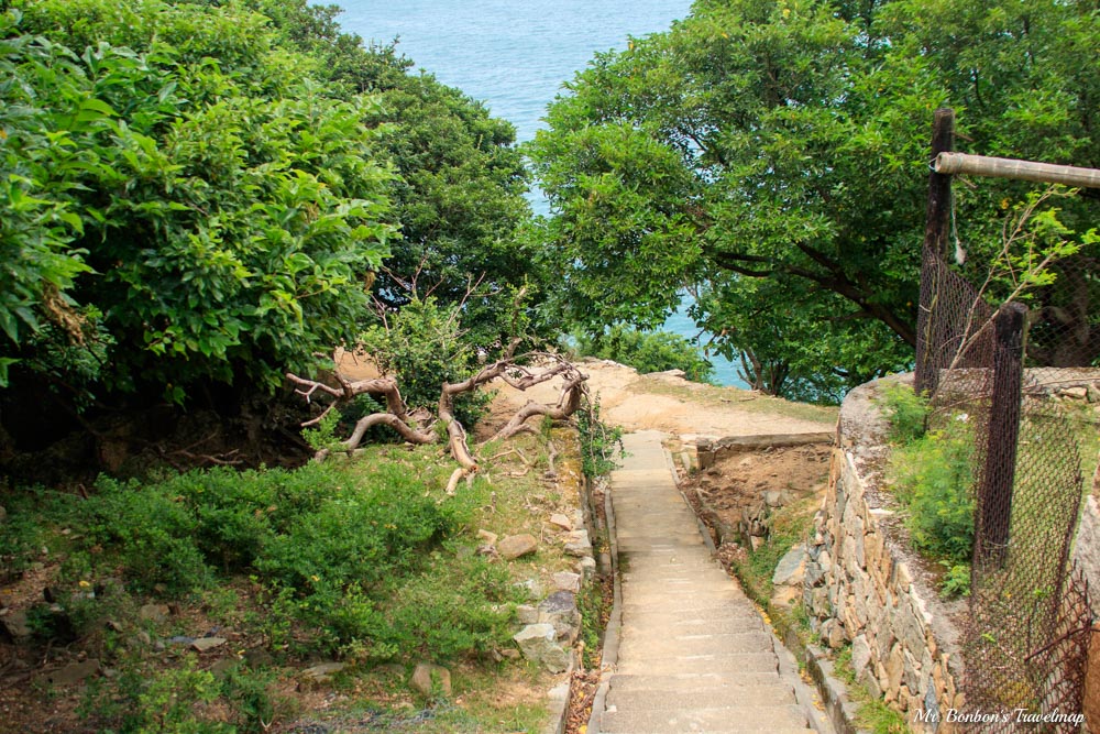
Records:
[[[714,375],[714,366],[678,333],[639,331],[617,324],[603,333],[576,333],[572,338],[578,354],[614,360],[642,374],[683,370],[695,382],[708,382]]]

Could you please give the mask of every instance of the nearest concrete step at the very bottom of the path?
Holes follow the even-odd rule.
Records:
[[[705,709],[642,709],[613,711],[600,720],[600,731],[645,734],[649,732],[804,732],[806,715],[795,705],[712,706]]]

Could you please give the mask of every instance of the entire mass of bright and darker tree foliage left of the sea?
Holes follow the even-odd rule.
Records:
[[[334,8],[7,6],[0,384],[268,392],[418,293],[471,341],[532,324],[512,127]]]

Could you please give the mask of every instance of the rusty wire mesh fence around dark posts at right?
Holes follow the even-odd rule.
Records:
[[[1046,731],[1079,731],[1074,714],[1084,710],[1092,612],[1087,584],[1067,566],[1079,447],[1091,447],[1098,428],[1088,403],[1066,396],[1096,390],[1088,344],[1100,280],[1094,260],[1063,267],[1075,275],[1040,293],[1034,308],[994,310],[938,252],[924,252],[917,387],[932,396],[933,427],[965,420],[974,441],[964,695],[970,711],[1010,714],[987,731],[1018,731],[1020,716],[1035,715]]]

